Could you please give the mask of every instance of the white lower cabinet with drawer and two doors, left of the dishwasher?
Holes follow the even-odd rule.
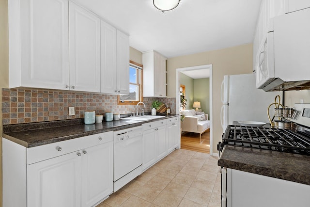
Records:
[[[113,192],[113,131],[2,150],[5,207],[91,207]]]

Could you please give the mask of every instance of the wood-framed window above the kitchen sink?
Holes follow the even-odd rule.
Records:
[[[143,101],[142,93],[142,65],[129,62],[129,94],[117,96],[119,105],[134,105]]]

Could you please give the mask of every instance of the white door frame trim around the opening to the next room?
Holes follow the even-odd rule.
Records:
[[[213,155],[213,101],[212,101],[212,64],[207,64],[207,65],[199,65],[199,66],[192,66],[192,67],[183,67],[183,68],[177,68],[176,69],[176,92],[175,92],[175,97],[176,97],[176,113],[179,114],[179,106],[180,106],[180,73],[185,72],[185,71],[195,71],[195,70],[203,70],[203,69],[209,69],[210,73],[210,86],[209,86],[209,119],[210,119],[210,155]]]

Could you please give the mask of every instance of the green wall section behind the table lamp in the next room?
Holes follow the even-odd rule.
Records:
[[[201,110],[210,114],[210,79],[194,79],[194,101],[200,101]]]

